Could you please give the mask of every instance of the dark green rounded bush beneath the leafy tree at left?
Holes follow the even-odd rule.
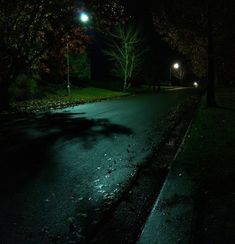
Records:
[[[34,98],[37,91],[37,81],[32,76],[26,74],[18,75],[15,82],[9,88],[10,97],[14,101]]]

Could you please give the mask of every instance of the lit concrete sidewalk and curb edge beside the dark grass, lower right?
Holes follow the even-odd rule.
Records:
[[[181,151],[190,129],[191,123],[176,157]],[[137,243],[190,243],[194,196],[194,182],[187,175],[181,162],[176,159]]]

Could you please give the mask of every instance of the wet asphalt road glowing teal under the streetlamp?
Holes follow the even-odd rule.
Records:
[[[85,104],[2,125],[0,243],[84,241],[102,206],[122,194],[160,140],[164,116],[193,92]]]

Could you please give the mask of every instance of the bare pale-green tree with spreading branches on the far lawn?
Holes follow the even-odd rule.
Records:
[[[131,86],[131,79],[140,72],[144,50],[137,29],[119,25],[110,33],[109,47],[104,51],[113,62],[112,72],[123,80],[123,90]]]

